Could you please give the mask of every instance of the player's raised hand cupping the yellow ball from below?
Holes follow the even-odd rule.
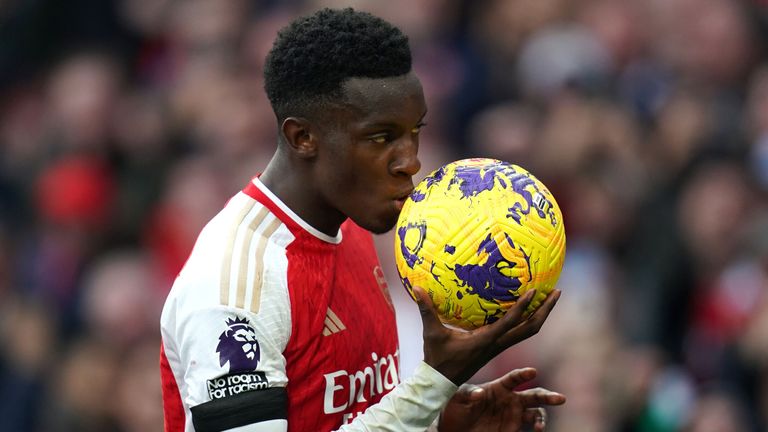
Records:
[[[534,290],[520,297],[501,319],[472,331],[450,329],[440,322],[432,300],[421,287],[413,287],[424,326],[424,362],[456,385],[466,382],[492,358],[541,329],[560,298],[552,291],[541,306],[527,318],[524,312]]]

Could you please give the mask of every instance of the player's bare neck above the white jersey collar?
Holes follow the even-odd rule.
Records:
[[[259,180],[313,228],[335,236],[346,216],[325,203],[322,194],[315,189],[317,182],[309,175],[310,167],[296,165],[281,157],[278,151]]]

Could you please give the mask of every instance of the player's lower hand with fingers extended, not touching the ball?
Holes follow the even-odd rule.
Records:
[[[565,396],[543,388],[515,391],[536,377],[536,369],[515,369],[489,383],[465,384],[443,409],[440,432],[519,432],[523,427],[543,432],[542,405],[562,405]]]

